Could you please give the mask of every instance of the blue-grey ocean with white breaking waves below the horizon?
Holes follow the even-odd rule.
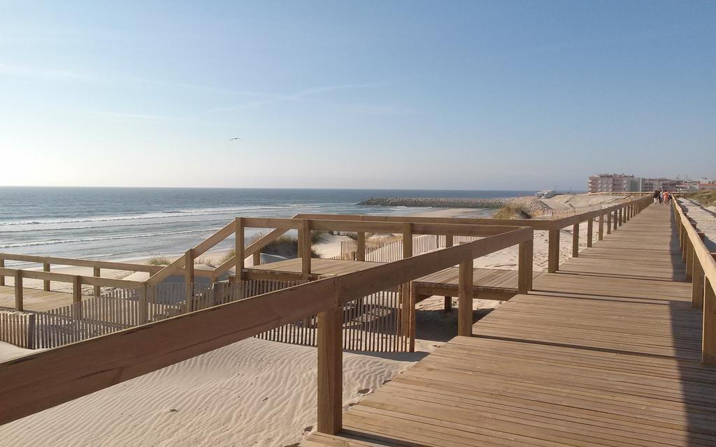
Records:
[[[97,260],[178,255],[234,217],[297,213],[407,215],[370,197],[494,198],[533,191],[0,187],[0,252]],[[485,210],[485,216],[494,210]],[[258,232],[260,230],[254,230]],[[247,237],[252,233],[247,230]],[[214,250],[228,248],[224,241]],[[8,261],[6,266],[27,265]]]

